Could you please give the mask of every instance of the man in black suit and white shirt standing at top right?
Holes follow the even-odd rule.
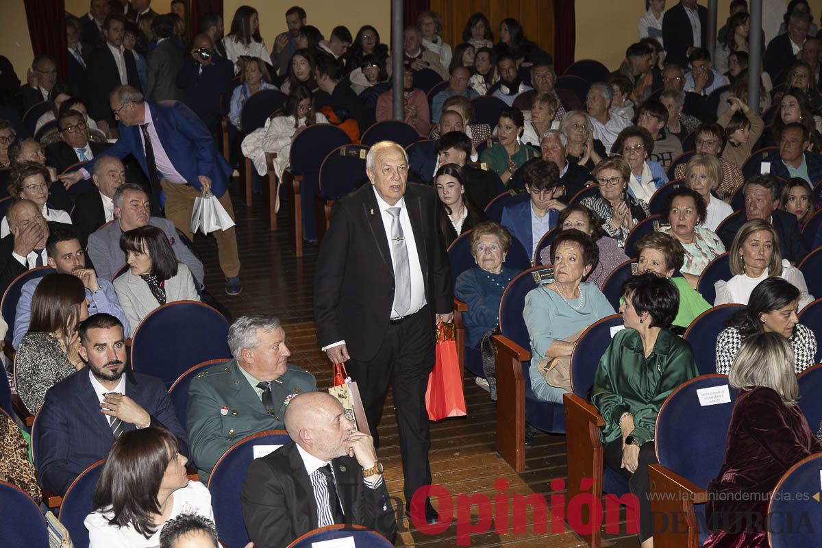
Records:
[[[690,48],[704,48],[708,39],[708,9],[696,0],[681,0],[663,16],[666,63],[688,66]]]

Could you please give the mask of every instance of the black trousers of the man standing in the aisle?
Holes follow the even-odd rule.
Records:
[[[350,351],[349,351],[350,352]],[[428,374],[434,367],[434,328],[428,306],[399,323],[390,323],[376,356],[369,361],[353,358],[345,369],[363,398],[368,426],[379,445],[377,426],[390,383],[399,428],[403,461],[404,495],[408,504],[414,492],[431,483],[428,448],[431,431],[425,408]]]

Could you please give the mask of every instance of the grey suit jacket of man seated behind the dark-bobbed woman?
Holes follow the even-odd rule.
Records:
[[[152,217],[149,219],[149,224],[165,233],[166,237],[169,238],[171,248],[174,250],[174,256],[188,266],[194,279],[203,286],[205,277],[203,264],[194,256],[192,250],[188,249],[186,244],[180,242],[174,223],[162,217]],[[120,249],[121,234],[120,223],[114,220],[89,235],[88,253],[99,278],[111,279],[120,267],[126,264],[126,253]],[[132,325],[132,327],[136,327],[136,325]]]

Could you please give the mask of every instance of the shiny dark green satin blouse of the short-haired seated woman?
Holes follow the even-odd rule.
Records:
[[[604,443],[619,439],[619,419],[634,413],[632,432],[640,445],[653,440],[659,408],[673,389],[699,375],[690,344],[660,329],[653,351],[645,358],[640,334],[623,329],[599,360],[591,402],[602,415]]]

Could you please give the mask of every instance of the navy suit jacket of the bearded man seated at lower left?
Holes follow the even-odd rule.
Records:
[[[128,371],[128,370],[127,370]],[[126,395],[151,416],[151,426],[171,431],[180,442],[180,453],[188,454],[188,438],[163,382],[149,375],[128,371]],[[36,467],[44,489],[63,495],[85,468],[104,458],[114,441],[107,417],[99,410],[99,399],[83,368],[53,385],[37,420]],[[123,422],[124,431],[136,426]]]

